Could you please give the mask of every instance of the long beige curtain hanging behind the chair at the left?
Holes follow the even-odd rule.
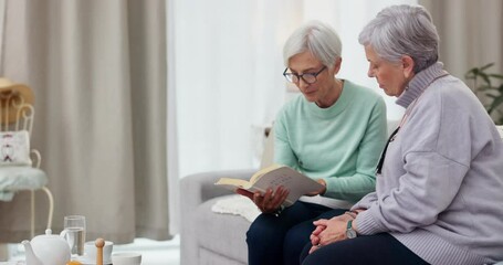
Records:
[[[83,214],[87,240],[170,237],[163,0],[8,0],[2,76],[35,94],[32,147],[54,193],[53,231]],[[29,237],[28,193],[0,203],[0,242]],[[36,232],[46,202],[36,197]]]

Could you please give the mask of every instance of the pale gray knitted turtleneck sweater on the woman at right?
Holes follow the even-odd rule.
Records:
[[[398,98],[408,117],[376,192],[353,208],[367,209],[356,227],[388,232],[431,264],[493,263],[503,259],[503,142],[479,99],[442,66],[418,73]]]

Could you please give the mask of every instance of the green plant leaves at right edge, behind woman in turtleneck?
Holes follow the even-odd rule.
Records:
[[[473,67],[464,74],[467,81],[473,81],[473,92],[484,103],[491,118],[496,125],[503,125],[503,75],[489,73],[494,63]]]

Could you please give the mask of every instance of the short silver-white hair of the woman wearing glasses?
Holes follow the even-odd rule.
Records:
[[[321,21],[308,21],[296,29],[283,46],[283,60],[287,67],[292,56],[311,52],[323,65],[332,67],[340,57],[343,44],[335,30]]]

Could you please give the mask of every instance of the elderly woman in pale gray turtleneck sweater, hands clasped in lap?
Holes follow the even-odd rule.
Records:
[[[428,11],[394,6],[359,34],[405,116],[377,168],[376,192],[318,220],[303,264],[490,264],[503,259],[503,142],[481,103],[438,62]]]

